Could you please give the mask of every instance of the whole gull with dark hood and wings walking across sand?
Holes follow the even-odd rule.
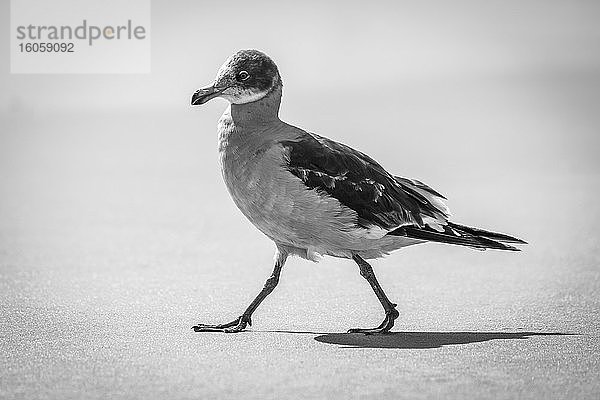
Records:
[[[438,242],[473,249],[518,250],[515,237],[456,224],[446,198],[426,184],[386,171],[374,159],[342,143],[279,119],[283,84],[266,54],[240,50],[198,89],[193,106],[221,97],[230,104],[218,125],[223,179],[241,212],[275,242],[275,266],[241,316],[225,324],[199,324],[197,332],[241,332],[279,282],[290,255],[352,259],[383,306],[375,328],[385,333],[399,313],[366,261],[402,247]]]

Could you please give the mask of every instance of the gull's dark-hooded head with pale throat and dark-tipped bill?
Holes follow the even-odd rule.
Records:
[[[198,89],[192,105],[222,97],[233,104],[257,101],[281,85],[277,65],[258,50],[240,50],[225,61],[212,85]]]

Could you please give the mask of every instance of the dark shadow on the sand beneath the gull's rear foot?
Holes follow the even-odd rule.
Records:
[[[532,336],[568,335],[573,334],[558,332],[389,332],[376,335],[326,333],[315,337],[315,340],[321,343],[362,349],[434,349],[490,340],[523,340]]]

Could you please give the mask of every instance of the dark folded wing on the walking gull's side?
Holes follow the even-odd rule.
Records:
[[[371,157],[344,144],[306,133],[282,141],[287,169],[304,184],[325,192],[358,214],[358,225],[390,230],[423,226],[423,218],[444,220],[447,210],[431,201],[428,186],[390,175]],[[423,187],[419,187],[422,185]]]

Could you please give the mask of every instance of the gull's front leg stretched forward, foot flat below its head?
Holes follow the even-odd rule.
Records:
[[[265,282],[262,290],[256,296],[256,298],[250,303],[246,311],[234,319],[231,322],[226,324],[218,324],[218,325],[206,325],[206,324],[198,324],[193,326],[192,329],[196,332],[225,332],[225,333],[234,333],[241,332],[246,329],[247,325],[252,325],[252,313],[258,308],[260,303],[275,289],[277,284],[279,283],[279,275],[281,274],[281,269],[285,264],[285,260],[287,259],[287,252],[277,249],[276,257],[275,257],[275,268],[273,268],[273,273]]]

